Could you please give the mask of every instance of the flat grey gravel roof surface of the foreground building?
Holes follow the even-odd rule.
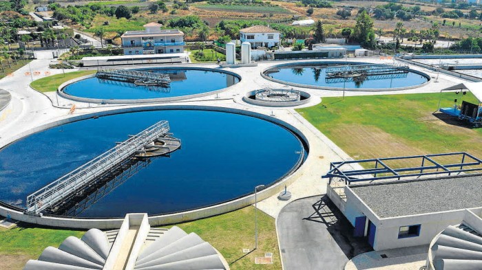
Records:
[[[482,175],[350,186],[380,218],[482,206]]]

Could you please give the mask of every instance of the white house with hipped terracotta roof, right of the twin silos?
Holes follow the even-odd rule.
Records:
[[[277,47],[280,45],[281,32],[264,25],[254,25],[240,30],[241,42],[251,43],[251,48]]]

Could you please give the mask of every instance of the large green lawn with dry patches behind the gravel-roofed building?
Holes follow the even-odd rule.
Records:
[[[297,111],[355,159],[457,151],[482,157],[482,128],[432,114],[440,96],[323,98],[321,104]],[[470,93],[463,97],[474,102]],[[441,106],[452,106],[454,98],[461,100],[461,95],[443,93]]]

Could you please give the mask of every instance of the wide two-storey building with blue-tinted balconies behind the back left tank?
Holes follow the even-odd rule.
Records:
[[[163,29],[160,23],[147,23],[143,31],[127,31],[122,36],[125,55],[179,54],[184,52],[184,33],[177,29]]]

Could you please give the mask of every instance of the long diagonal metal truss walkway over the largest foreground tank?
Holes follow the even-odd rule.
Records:
[[[161,137],[168,135],[168,132],[169,122],[160,121],[137,135],[130,136],[129,139],[118,143],[114,148],[88,161],[83,166],[72,170],[67,175],[28,195],[25,212],[39,214],[43,210],[62,202],[67,197],[95,183],[96,179],[104,175],[105,172],[109,172],[109,170],[113,170],[116,166],[123,164],[126,159],[135,157],[139,153],[145,153],[146,149],[153,142],[158,142]],[[165,153],[169,150],[171,148],[165,150]]]

